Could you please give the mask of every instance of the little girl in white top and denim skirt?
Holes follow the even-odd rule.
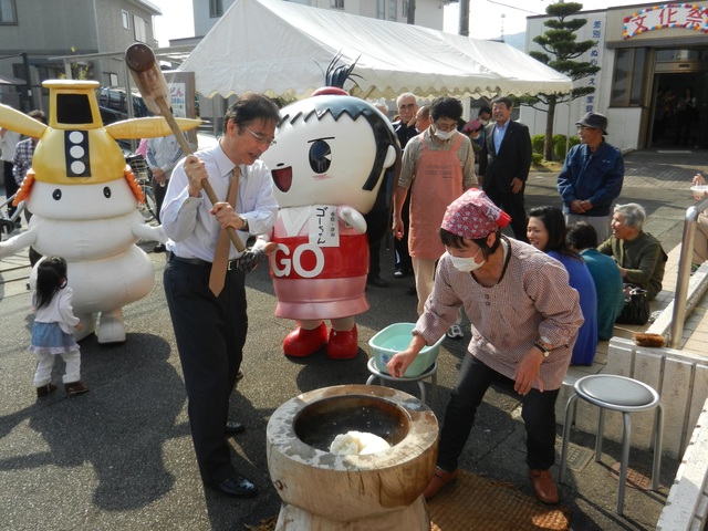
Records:
[[[81,330],[81,322],[71,308],[72,293],[66,285],[66,261],[59,257],[42,260],[37,267],[37,290],[32,294],[37,314],[30,345],[30,352],[39,357],[34,373],[37,396],[46,396],[56,389],[51,382],[56,354],[66,363],[64,391],[70,395],[88,391],[81,383],[81,356],[71,330]]]

